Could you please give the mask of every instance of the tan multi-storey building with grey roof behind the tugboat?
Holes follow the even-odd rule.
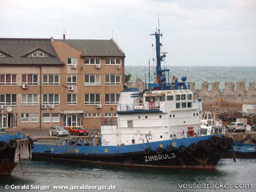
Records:
[[[0,38],[0,126],[98,129],[116,117],[124,58],[113,39]]]

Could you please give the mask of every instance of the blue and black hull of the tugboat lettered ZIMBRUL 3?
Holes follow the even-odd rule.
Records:
[[[215,137],[216,142],[212,141]],[[223,144],[224,142],[224,144]],[[33,158],[137,167],[213,169],[228,149],[228,138],[190,137],[124,146],[60,145],[35,142]]]

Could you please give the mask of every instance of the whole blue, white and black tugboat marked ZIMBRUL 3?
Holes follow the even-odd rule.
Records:
[[[120,93],[117,120],[101,119],[97,139],[59,139],[53,143],[35,142],[33,158],[58,159],[95,164],[134,167],[214,169],[232,140],[219,135],[199,136],[202,110],[194,100],[186,77],[169,79],[161,69],[160,30],[156,38],[156,82]],[[167,74],[166,74],[167,73]],[[98,141],[98,142],[96,142]]]

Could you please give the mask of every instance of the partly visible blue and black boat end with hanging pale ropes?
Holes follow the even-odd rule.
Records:
[[[33,141],[27,135],[0,135],[0,175],[11,175],[19,160],[31,159]]]

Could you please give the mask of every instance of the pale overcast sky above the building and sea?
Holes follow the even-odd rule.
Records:
[[[158,28],[167,66],[256,66],[255,0],[1,0],[0,38],[111,39],[144,66]]]

